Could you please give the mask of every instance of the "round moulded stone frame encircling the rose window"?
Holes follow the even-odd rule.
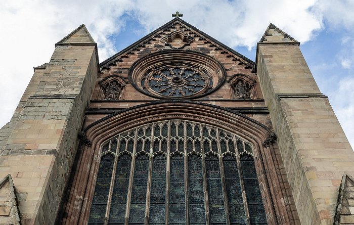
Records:
[[[186,96],[167,96],[154,91],[146,78],[156,71],[166,68],[190,68],[208,76],[206,86],[200,91]],[[155,52],[136,61],[129,69],[129,81],[139,92],[158,99],[193,99],[214,92],[226,80],[226,70],[216,59],[195,51],[172,50]],[[174,77],[171,77],[172,79]],[[179,80],[175,80],[178,82]],[[182,81],[181,81],[182,82]],[[209,85],[210,83],[210,85]]]

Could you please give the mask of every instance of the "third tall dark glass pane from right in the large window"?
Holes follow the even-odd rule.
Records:
[[[210,222],[226,224],[223,186],[218,158],[216,156],[207,156],[205,158],[205,167],[209,197]]]

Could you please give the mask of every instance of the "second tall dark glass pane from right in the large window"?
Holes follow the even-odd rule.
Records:
[[[242,199],[241,184],[237,168],[236,158],[226,156],[223,159],[226,182],[226,193],[228,196],[230,222],[237,224],[246,223],[245,209]]]

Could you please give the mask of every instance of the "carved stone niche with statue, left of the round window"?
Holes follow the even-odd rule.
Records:
[[[127,81],[118,74],[107,76],[99,81],[98,100],[119,100],[123,98]]]

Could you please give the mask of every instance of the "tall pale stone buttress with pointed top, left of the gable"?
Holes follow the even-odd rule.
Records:
[[[21,99],[0,177],[13,178],[22,224],[55,221],[98,66],[97,44],[81,25],[56,44]]]

